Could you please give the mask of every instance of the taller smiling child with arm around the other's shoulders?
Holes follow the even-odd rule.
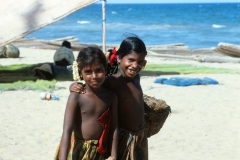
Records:
[[[146,46],[138,37],[128,37],[117,51],[110,52],[110,64],[117,59],[119,71],[107,77],[103,86],[114,91],[118,97],[117,159],[147,160],[148,141],[144,130],[144,101],[139,76],[146,65]],[[71,92],[84,93],[83,89],[83,85],[77,83],[70,86]]]

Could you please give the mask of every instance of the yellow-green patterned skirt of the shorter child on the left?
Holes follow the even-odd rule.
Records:
[[[71,136],[70,149],[67,160],[104,160],[97,151],[98,140],[83,140],[74,135]],[[60,144],[54,156],[58,160]]]

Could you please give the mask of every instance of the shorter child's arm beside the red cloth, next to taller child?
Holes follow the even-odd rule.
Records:
[[[111,106],[112,122],[111,122],[111,132],[112,135],[112,150],[110,160],[115,160],[117,158],[117,146],[118,146],[118,114],[117,114],[118,100],[117,96],[114,94],[113,103]]]

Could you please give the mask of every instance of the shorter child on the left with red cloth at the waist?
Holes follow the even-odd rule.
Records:
[[[87,47],[77,57],[80,77],[86,93],[71,92],[68,98],[63,133],[55,155],[60,160],[102,160],[107,148],[110,159],[117,157],[117,96],[102,86],[106,76],[106,58],[97,47]],[[110,139],[110,146],[107,140]]]

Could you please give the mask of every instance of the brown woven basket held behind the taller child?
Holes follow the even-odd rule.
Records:
[[[157,134],[168,115],[171,113],[171,108],[164,100],[155,99],[147,95],[143,95],[145,109],[145,130],[147,137]]]

